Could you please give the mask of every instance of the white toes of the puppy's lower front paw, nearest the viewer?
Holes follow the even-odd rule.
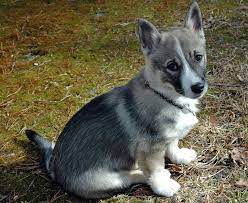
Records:
[[[179,189],[179,183],[171,178],[161,180],[161,183],[159,185],[152,186],[153,192],[165,197],[172,197]]]

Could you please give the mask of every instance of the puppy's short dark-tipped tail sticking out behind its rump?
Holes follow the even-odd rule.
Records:
[[[33,130],[25,130],[25,133],[29,140],[38,145],[42,153],[42,163],[45,165],[46,170],[51,174],[49,163],[52,157],[52,152],[54,148],[54,142],[41,137],[38,133]]]

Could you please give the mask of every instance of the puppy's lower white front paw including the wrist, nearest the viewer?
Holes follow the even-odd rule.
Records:
[[[170,178],[167,170],[154,173],[150,177],[149,185],[154,193],[165,197],[173,196],[180,189],[179,183]]]

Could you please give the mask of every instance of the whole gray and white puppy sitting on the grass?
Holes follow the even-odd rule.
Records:
[[[53,180],[83,198],[103,198],[147,183],[170,197],[180,185],[164,157],[189,164],[192,149],[178,141],[198,122],[198,99],[207,91],[202,18],[194,2],[181,28],[159,32],[138,21],[145,67],[127,85],[100,95],[80,109],[54,143],[32,130]]]

